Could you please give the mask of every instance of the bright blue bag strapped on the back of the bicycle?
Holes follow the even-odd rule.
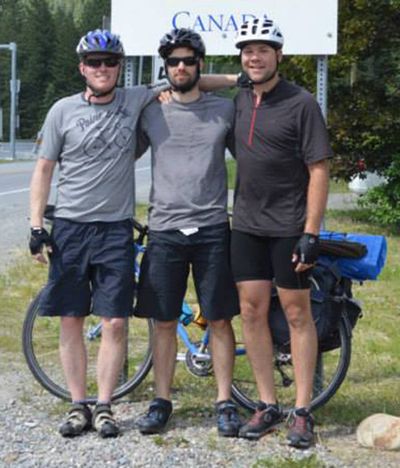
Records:
[[[375,280],[385,265],[387,253],[385,236],[321,231],[320,239],[358,243],[366,247],[366,254],[360,258],[320,255],[321,263],[334,262],[345,278],[358,281]]]

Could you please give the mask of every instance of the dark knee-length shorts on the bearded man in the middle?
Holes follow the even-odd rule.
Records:
[[[230,319],[238,314],[229,243],[228,223],[202,227],[190,236],[175,230],[150,231],[135,315],[176,320],[182,312],[190,269],[201,313],[207,320]]]

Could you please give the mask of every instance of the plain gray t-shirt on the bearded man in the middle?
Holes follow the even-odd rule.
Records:
[[[146,107],[137,156],[151,145],[151,230],[227,221],[225,149],[233,121],[233,101],[210,94],[190,103],[154,101]]]

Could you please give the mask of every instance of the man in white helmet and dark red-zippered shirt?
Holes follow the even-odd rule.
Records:
[[[314,441],[309,405],[317,356],[309,274],[318,257],[332,151],[313,96],[278,75],[283,36],[277,25],[268,19],[244,23],[236,46],[248,87],[236,97],[232,268],[260,396],[240,436],[258,439],[283,419],[266,320],[274,280],[289,324],[296,381],[288,441],[307,448]]]

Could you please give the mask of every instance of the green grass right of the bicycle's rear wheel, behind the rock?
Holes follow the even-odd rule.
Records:
[[[337,395],[318,411],[318,420],[326,424],[355,425],[373,413],[397,414],[400,406],[400,238],[355,219],[354,213],[328,213],[327,228],[383,233],[388,240],[388,258],[377,281],[354,285],[363,317],[354,329],[346,380]]]

